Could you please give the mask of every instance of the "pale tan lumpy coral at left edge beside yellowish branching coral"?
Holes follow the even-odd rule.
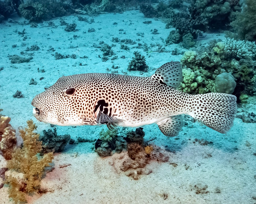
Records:
[[[17,145],[15,129],[9,124],[11,118],[1,116],[0,119],[0,154],[5,159],[12,159],[12,153]]]

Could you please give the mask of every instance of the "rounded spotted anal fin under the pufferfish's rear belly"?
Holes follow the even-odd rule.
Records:
[[[174,137],[179,134],[183,127],[183,119],[181,116],[172,116],[157,123],[161,132],[169,137]]]

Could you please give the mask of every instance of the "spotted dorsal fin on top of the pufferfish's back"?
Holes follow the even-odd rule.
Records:
[[[180,62],[167,62],[159,67],[151,76],[158,83],[178,88],[182,82],[182,68]]]

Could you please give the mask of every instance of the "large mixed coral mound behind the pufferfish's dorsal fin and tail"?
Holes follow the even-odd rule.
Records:
[[[238,98],[243,92],[249,95],[256,93],[255,49],[255,44],[251,42],[228,38],[218,42],[212,41],[209,46],[199,48],[196,51],[185,52],[180,61],[184,69],[190,69],[189,71],[195,73],[195,80],[192,82],[197,82],[197,87],[194,90],[187,88],[184,91],[192,94],[216,92],[216,86],[214,87],[216,77],[226,72],[234,77],[237,85],[233,94]],[[187,78],[188,76],[184,77]],[[217,84],[220,82],[219,79],[218,77]],[[186,82],[189,81],[186,80]],[[231,87],[235,85],[232,80],[229,82],[230,84],[226,84],[226,88],[230,88],[228,91],[230,93]],[[183,87],[187,87],[187,85],[183,85]]]

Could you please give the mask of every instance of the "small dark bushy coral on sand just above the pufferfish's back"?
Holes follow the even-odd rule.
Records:
[[[145,56],[142,56],[137,51],[135,51],[133,54],[135,57],[132,57],[132,60],[129,62],[128,71],[147,72],[148,66],[146,65]]]

